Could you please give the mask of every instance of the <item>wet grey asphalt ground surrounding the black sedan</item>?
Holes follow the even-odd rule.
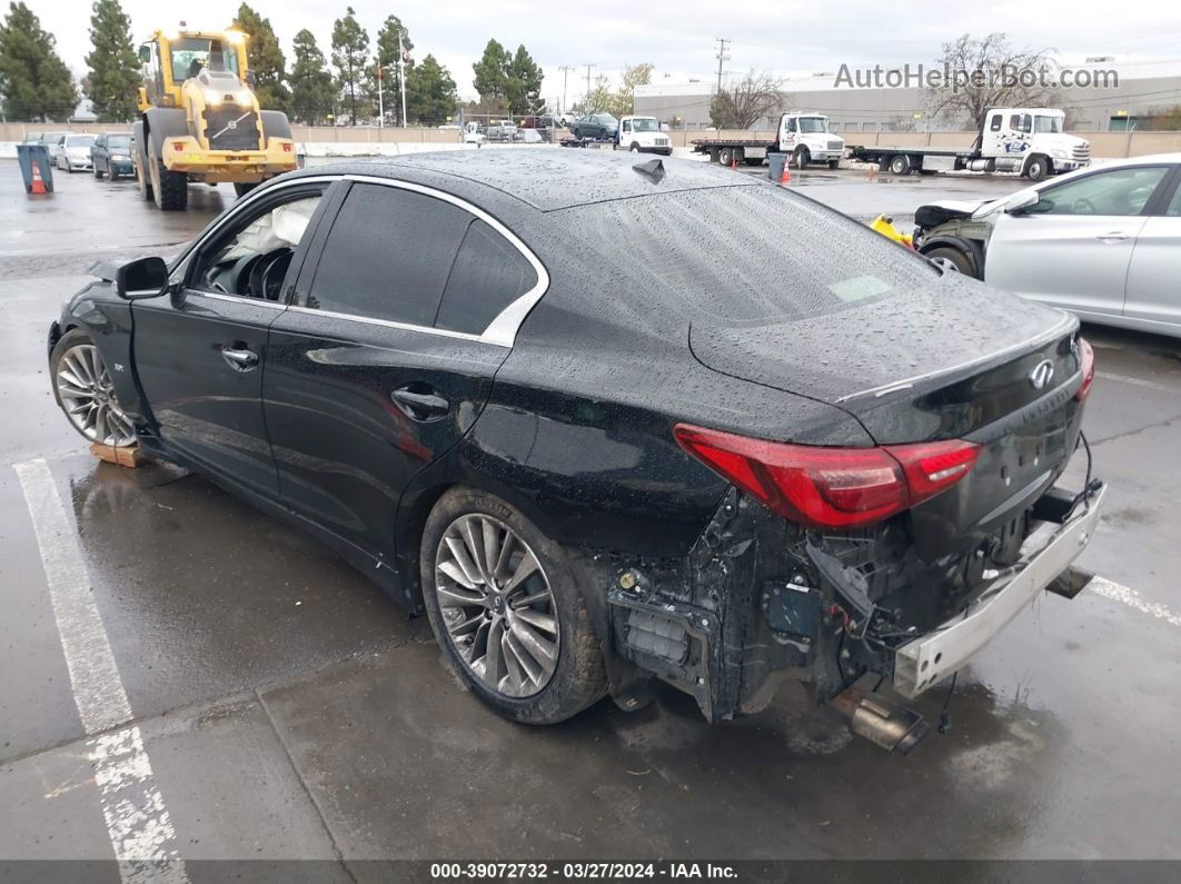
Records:
[[[185,859],[321,859],[285,876],[348,880],[404,858],[1181,857],[1181,341],[1088,329],[1110,499],[1081,564],[1108,588],[1018,617],[961,674],[946,735],[888,755],[790,689],[716,726],[670,688],[530,729],[466,695],[426,623],[313,541],[196,476],[86,451],[50,392],[59,305],[94,260],[167,254],[234,196],[194,186],[187,214],[161,214],[133,182],[57,185],[27,198],[0,163],[0,859],[113,856],[14,470],[39,458]],[[826,170],[794,186],[908,221],[1018,183]],[[944,693],[918,708],[938,719]]]

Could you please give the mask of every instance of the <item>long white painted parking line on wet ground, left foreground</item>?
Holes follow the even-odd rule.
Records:
[[[148,879],[184,884],[189,879],[184,860],[139,728],[112,729],[131,721],[131,703],[91,594],[77,532],[45,459],[13,469],[37,535],[74,703],[91,738],[87,758],[119,876],[128,884]]]

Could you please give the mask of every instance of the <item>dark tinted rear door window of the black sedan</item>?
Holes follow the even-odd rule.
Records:
[[[306,307],[433,326],[471,215],[383,184],[353,184],[324,243]]]

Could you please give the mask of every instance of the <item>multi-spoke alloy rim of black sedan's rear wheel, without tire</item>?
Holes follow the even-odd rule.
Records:
[[[511,528],[483,513],[452,522],[435,556],[435,585],[448,640],[477,679],[513,698],[549,683],[561,642],[554,592]]]

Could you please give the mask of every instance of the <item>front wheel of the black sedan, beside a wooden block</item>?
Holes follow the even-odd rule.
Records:
[[[74,430],[100,445],[135,444],[135,427],[115,395],[103,354],[85,334],[74,329],[63,335],[50,365],[53,395]]]

